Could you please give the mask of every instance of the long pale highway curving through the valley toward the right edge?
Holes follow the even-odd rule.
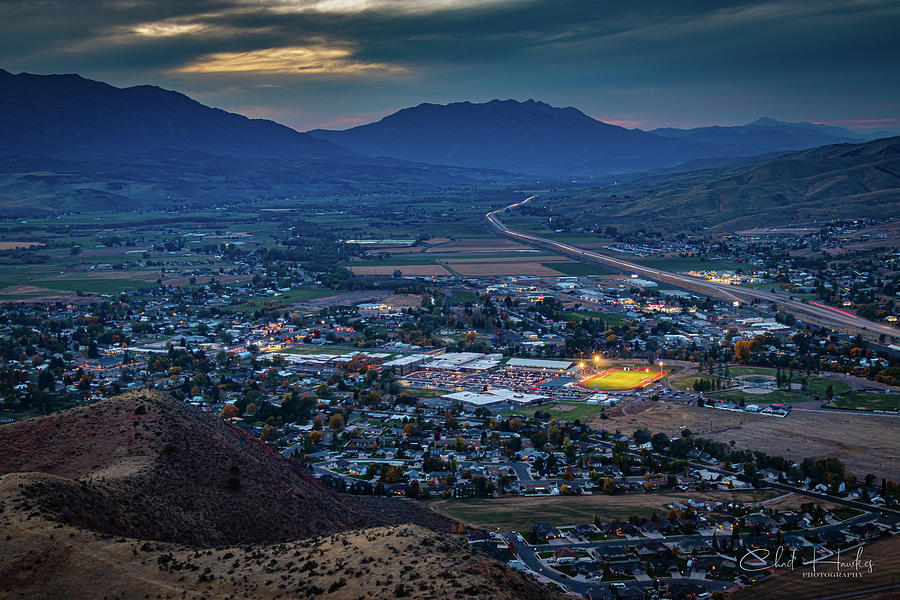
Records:
[[[504,211],[516,208],[525,204],[534,196],[529,196],[525,200],[510,204],[504,208],[491,211],[485,215],[488,224],[500,235],[511,238],[518,242],[549,250],[562,254],[576,260],[601,264],[614,267],[621,271],[634,273],[647,279],[652,279],[661,283],[667,283],[676,287],[690,290],[692,292],[705,294],[714,298],[719,298],[727,302],[749,302],[751,300],[760,300],[770,302],[793,314],[798,319],[814,325],[824,326],[830,329],[844,331],[851,334],[860,334],[863,337],[874,339],[884,334],[890,341],[896,341],[900,337],[900,331],[896,328],[874,323],[866,319],[862,319],[848,312],[838,310],[818,303],[806,303],[795,300],[790,297],[785,298],[780,294],[775,294],[765,290],[757,290],[753,288],[744,288],[739,286],[724,285],[713,283],[697,277],[689,275],[680,275],[668,271],[661,271],[651,267],[645,267],[637,263],[628,262],[612,256],[607,256],[599,252],[585,250],[576,246],[571,246],[562,242],[557,242],[548,238],[543,238],[531,233],[516,231],[507,227],[500,220],[500,214]]]

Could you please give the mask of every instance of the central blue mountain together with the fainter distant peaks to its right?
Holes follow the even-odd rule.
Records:
[[[769,118],[735,127],[648,132],[534,100],[420,104],[375,123],[308,133],[369,156],[556,176],[647,171],[692,159],[865,139],[838,127]]]

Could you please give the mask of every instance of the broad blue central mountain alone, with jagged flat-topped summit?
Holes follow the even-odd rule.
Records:
[[[541,175],[642,171],[719,154],[708,144],[628,130],[533,98],[426,103],[375,123],[308,133],[369,156]]]

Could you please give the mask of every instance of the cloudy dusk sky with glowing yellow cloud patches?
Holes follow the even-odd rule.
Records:
[[[299,130],[535,99],[625,127],[900,131],[897,0],[0,0],[0,68]]]

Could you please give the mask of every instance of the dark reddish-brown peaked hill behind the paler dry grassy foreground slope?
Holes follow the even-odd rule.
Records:
[[[140,392],[3,426],[0,474],[31,473],[23,493],[49,518],[144,539],[264,543],[407,520],[449,529],[412,503],[339,496],[266,450]],[[391,510],[373,510],[379,500]]]

